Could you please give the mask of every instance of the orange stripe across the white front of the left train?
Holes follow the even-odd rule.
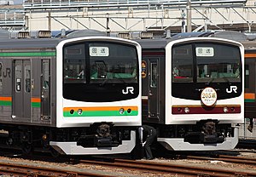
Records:
[[[132,109],[137,111],[137,106],[112,106],[112,107],[64,107],[63,111],[70,111],[70,110],[79,110],[82,109],[84,111],[119,111],[120,108]]]

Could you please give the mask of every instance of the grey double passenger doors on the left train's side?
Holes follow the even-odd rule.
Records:
[[[31,120],[31,61],[14,60],[13,115],[14,120]]]

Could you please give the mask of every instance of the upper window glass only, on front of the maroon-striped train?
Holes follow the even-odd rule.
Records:
[[[194,43],[172,49],[174,83],[240,83],[241,55],[238,47]]]

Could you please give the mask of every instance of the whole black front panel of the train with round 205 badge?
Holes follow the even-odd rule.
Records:
[[[241,51],[226,43],[185,43],[172,47],[172,96],[200,100],[202,88],[218,90],[218,99],[239,96],[242,90]],[[236,91],[230,94],[230,85]]]

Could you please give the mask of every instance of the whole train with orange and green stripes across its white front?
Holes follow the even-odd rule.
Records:
[[[141,47],[117,37],[0,40],[0,146],[129,153],[141,126]]]

